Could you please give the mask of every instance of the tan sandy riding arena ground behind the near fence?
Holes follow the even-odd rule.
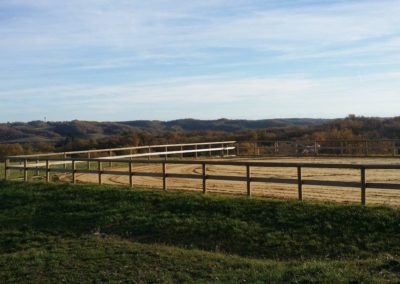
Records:
[[[232,159],[240,161],[268,161],[268,162],[304,162],[304,163],[364,163],[364,164],[397,164],[399,159],[393,158],[265,158],[257,160]],[[128,168],[114,167],[107,170],[128,171]],[[161,165],[140,164],[134,165],[133,171],[137,172],[159,172]],[[168,173],[201,174],[201,166],[197,165],[168,165]],[[233,175],[246,176],[246,169],[243,166],[207,166],[209,175]],[[252,168],[253,177],[275,177],[275,178],[297,178],[297,170],[289,168]],[[359,170],[349,169],[303,169],[303,179],[328,180],[328,181],[360,181]],[[68,177],[65,177],[68,178]],[[98,177],[95,174],[77,174],[79,182],[97,183]],[[390,182],[400,183],[399,170],[367,170],[367,182]],[[104,184],[129,183],[128,176],[103,175]],[[147,188],[161,188],[162,179],[159,177],[134,176],[135,186]],[[202,181],[194,179],[167,179],[167,187],[170,190],[191,190],[201,191]],[[255,183],[251,184],[252,195],[265,196],[280,199],[296,199],[297,185]],[[235,181],[207,181],[207,191],[229,194],[246,194],[246,183]],[[304,200],[335,201],[342,203],[360,203],[361,192],[359,188],[339,188],[324,186],[304,186]],[[386,204],[400,206],[400,190],[379,190],[367,189],[367,204]]]

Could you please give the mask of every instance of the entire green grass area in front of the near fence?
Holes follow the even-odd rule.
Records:
[[[0,282],[380,283],[400,211],[0,182]]]

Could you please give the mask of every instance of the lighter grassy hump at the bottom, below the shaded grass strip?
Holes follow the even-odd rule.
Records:
[[[46,245],[0,256],[0,281],[349,283],[395,281],[394,259],[363,261],[253,260],[199,250],[146,245],[115,237],[49,238]]]

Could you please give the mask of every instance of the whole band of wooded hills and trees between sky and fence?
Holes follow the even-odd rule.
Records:
[[[44,122],[0,124],[0,157],[216,140],[400,139],[400,117],[344,119]]]

